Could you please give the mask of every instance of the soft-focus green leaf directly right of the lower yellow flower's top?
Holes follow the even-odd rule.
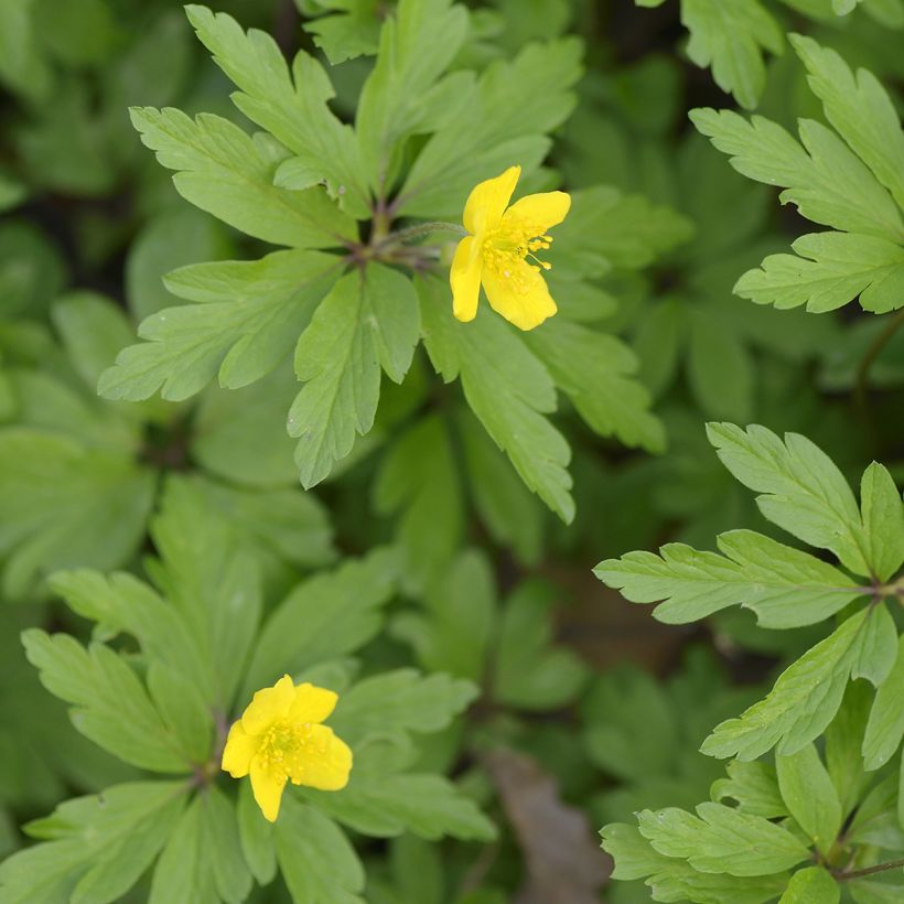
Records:
[[[410,668],[385,671],[344,693],[330,724],[353,746],[369,735],[432,733],[448,728],[477,693],[471,681],[441,672],[423,677]]]

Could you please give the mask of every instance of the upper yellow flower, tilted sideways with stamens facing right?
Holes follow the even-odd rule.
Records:
[[[552,239],[546,233],[566,218],[571,197],[546,192],[508,207],[520,174],[520,166],[509,166],[481,182],[464,206],[464,228],[471,235],[459,243],[449,275],[452,312],[461,321],[476,316],[481,283],[493,310],[521,330],[532,330],[556,313],[542,278],[551,265],[538,260],[535,251],[549,248]]]

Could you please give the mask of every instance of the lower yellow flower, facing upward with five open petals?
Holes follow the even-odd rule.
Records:
[[[233,778],[250,773],[266,819],[276,821],[287,779],[321,790],[348,784],[352,751],[322,725],[338,697],[332,690],[299,685],[283,675],[271,688],[259,690],[230,729],[223,751],[223,768]]]

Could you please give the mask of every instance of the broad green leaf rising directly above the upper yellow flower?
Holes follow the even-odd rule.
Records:
[[[573,37],[529,44],[510,63],[491,64],[478,80],[456,83],[439,128],[399,192],[398,213],[458,222],[481,180],[513,161],[525,175],[539,166],[550,147],[546,133],[574,106],[570,88],[581,75],[580,58],[581,43]],[[569,219],[573,216],[572,211]]]

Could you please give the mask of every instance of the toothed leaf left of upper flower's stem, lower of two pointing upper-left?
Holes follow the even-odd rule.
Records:
[[[132,125],[190,203],[255,238],[291,248],[330,248],[357,237],[354,220],[320,186],[273,185],[284,150],[212,114],[133,107]]]

